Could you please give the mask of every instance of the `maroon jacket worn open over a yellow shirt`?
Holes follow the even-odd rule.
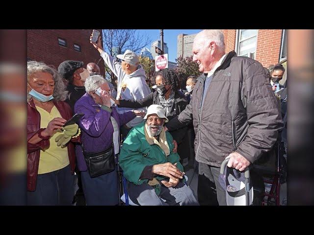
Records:
[[[69,120],[72,118],[72,111],[70,106],[64,101],[53,101],[53,104],[59,111],[62,118]],[[30,99],[27,103],[27,190],[35,191],[40,150],[46,150],[50,146],[49,140],[42,140],[36,144],[29,143],[28,141],[39,131],[40,129],[40,114],[37,111],[34,101]],[[80,137],[72,139],[73,142],[78,142]],[[71,173],[74,174],[75,169],[75,149],[74,143],[69,142],[68,155],[71,165]]]

